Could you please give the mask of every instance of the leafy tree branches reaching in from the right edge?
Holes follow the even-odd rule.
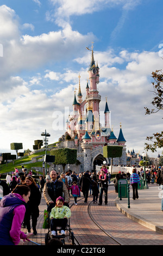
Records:
[[[146,114],[154,114],[163,109],[163,74],[161,70],[156,70],[152,72],[152,77],[154,82],[153,91],[154,94],[153,101],[151,102],[154,108],[149,109],[145,107]],[[151,150],[152,152],[156,151],[158,148],[163,147],[163,131],[155,132],[152,136],[148,136],[147,141],[149,143],[145,143],[145,150]],[[151,143],[150,143],[151,142]]]

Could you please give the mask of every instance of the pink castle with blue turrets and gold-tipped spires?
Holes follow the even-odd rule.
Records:
[[[66,122],[66,133],[74,139],[74,148],[78,149],[78,160],[81,162],[81,170],[92,170],[97,165],[101,165],[103,161],[110,163],[109,159],[103,157],[104,145],[121,145],[123,146],[123,154],[121,159],[114,159],[116,164],[126,164],[126,140],[123,137],[120,125],[120,133],[118,138],[114,135],[110,127],[110,111],[106,98],[104,109],[104,127],[100,124],[99,103],[101,95],[99,95],[97,85],[99,83],[99,67],[93,56],[93,46],[91,47],[91,63],[89,66],[89,82],[86,84],[86,96],[83,95],[80,88],[76,98],[74,93],[73,113],[69,115]]]

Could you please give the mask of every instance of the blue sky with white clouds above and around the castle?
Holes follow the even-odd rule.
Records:
[[[12,142],[32,150],[45,129],[49,143],[64,134],[65,107],[72,111],[79,74],[85,96],[91,58],[86,47],[93,41],[101,123],[107,96],[115,135],[122,123],[127,150],[142,153],[146,136],[162,130],[161,113],[145,115],[144,109],[152,108],[151,73],[163,64],[162,5],[161,0],[0,0],[0,151],[10,151]]]

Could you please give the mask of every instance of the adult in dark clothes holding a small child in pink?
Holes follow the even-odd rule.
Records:
[[[99,205],[103,203],[103,193],[104,193],[104,202],[108,204],[108,175],[105,176],[103,170],[101,170],[101,175],[99,175]]]

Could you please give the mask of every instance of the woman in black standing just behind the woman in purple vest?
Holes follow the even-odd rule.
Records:
[[[41,202],[41,193],[32,176],[26,177],[26,185],[30,188],[30,198],[27,204],[27,210],[24,217],[24,225],[30,233],[30,217],[32,218],[33,234],[36,235],[37,218],[39,217],[39,205]]]

